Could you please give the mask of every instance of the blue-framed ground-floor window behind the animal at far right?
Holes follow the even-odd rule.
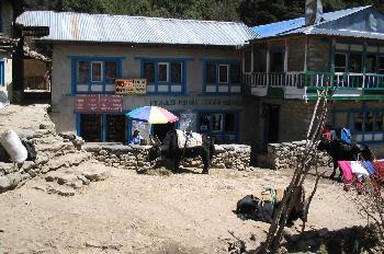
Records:
[[[335,111],[332,124],[338,136],[347,127],[357,142],[384,142],[384,108]]]

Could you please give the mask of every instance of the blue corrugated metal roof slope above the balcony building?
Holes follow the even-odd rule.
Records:
[[[340,18],[350,15],[352,13],[365,10],[370,7],[371,5],[358,7],[358,8],[351,8],[351,9],[346,9],[341,11],[324,13],[321,15],[323,22],[320,24],[327,23],[329,21],[338,20]],[[283,34],[303,33],[305,31],[312,30],[313,27],[314,25],[305,26],[305,18],[298,18],[294,20],[281,21],[281,22],[275,22],[267,25],[255,26],[252,27],[252,30],[256,33],[258,33],[259,38],[266,38],[266,37],[283,35]]]

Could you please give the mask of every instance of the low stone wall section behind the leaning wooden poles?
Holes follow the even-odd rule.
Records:
[[[267,164],[273,170],[289,170],[296,169],[298,160],[305,151],[305,140],[269,143]],[[318,152],[317,165],[329,166],[330,157],[326,152]]]

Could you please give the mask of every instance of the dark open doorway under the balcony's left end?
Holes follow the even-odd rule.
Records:
[[[280,106],[264,104],[264,145],[279,142]]]

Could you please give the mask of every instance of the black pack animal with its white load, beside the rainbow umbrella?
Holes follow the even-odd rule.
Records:
[[[195,146],[189,146],[196,141]],[[213,139],[195,132],[183,132],[181,130],[169,130],[163,145],[155,143],[148,152],[147,160],[155,161],[159,157],[173,160],[173,172],[179,172],[180,162],[183,158],[201,157],[204,168],[203,174],[208,174],[210,164],[215,152]]]

